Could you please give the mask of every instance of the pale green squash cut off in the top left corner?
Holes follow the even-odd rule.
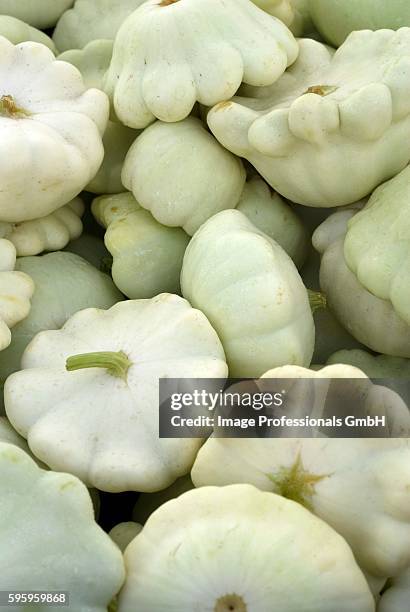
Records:
[[[74,0],[0,0],[0,14],[17,17],[36,28],[49,28]]]

